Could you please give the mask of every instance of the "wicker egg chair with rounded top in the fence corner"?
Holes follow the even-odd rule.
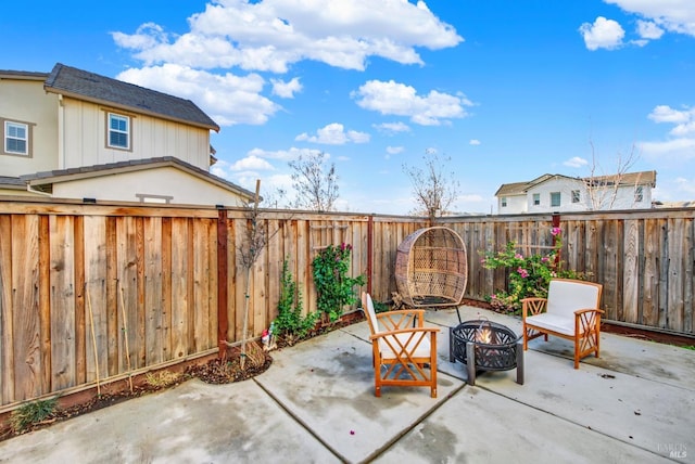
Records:
[[[395,283],[413,308],[458,306],[468,281],[466,245],[452,229],[419,229],[399,245]]]

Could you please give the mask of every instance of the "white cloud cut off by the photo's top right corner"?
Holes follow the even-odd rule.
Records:
[[[695,36],[693,0],[604,0],[670,33]]]

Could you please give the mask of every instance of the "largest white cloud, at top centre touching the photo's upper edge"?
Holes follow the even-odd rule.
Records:
[[[193,14],[189,25],[190,31],[176,37],[155,24],[112,36],[146,65],[274,73],[302,60],[359,70],[369,56],[422,64],[416,48],[438,50],[463,41],[424,2],[408,1],[218,1]]]

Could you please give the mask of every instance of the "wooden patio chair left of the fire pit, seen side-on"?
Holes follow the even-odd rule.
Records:
[[[437,327],[425,327],[424,309],[376,313],[371,296],[362,294],[371,335],[375,396],[381,387],[430,387],[437,398]]]

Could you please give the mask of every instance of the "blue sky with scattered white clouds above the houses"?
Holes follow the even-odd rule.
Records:
[[[404,164],[451,157],[453,209],[503,183],[656,170],[695,199],[693,0],[25,1],[0,68],[55,63],[187,98],[222,127],[213,172],[273,197],[325,152],[339,210],[407,214]]]

